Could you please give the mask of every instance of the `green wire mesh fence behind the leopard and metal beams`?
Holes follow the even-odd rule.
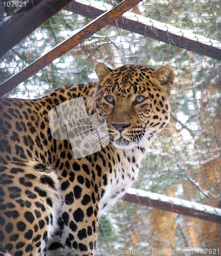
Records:
[[[117,4],[112,0],[78,2],[103,10]],[[154,19],[165,28],[172,25],[187,34],[191,31],[196,38],[221,39],[219,1],[143,1],[130,14],[137,20],[142,16]],[[60,11],[0,58],[0,81],[90,21]],[[176,74],[170,124],[154,140],[134,187],[220,207],[220,61],[108,25],[6,96],[39,98],[64,84],[96,81],[94,68],[99,61],[112,68],[126,63],[153,68],[170,65]],[[97,255],[178,255],[182,250],[185,255],[190,251],[192,255],[221,255],[220,244],[219,224],[119,202],[100,219]]]

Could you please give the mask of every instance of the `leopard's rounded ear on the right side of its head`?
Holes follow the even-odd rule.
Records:
[[[166,88],[168,93],[172,88],[172,82],[174,80],[175,74],[170,66],[160,67],[158,70],[153,72],[153,77],[158,79],[160,85]]]

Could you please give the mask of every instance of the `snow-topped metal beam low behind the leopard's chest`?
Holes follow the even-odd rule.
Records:
[[[184,202],[184,205],[179,205],[175,203],[175,200],[174,202],[172,202],[172,200],[162,201],[159,199],[154,199],[154,198],[157,198],[157,196],[154,196],[151,198],[152,194],[157,195],[155,193],[146,192],[146,194],[147,195],[150,194],[150,197],[135,195],[134,193],[132,194],[127,193],[123,197],[123,200],[130,203],[136,203],[136,204],[140,204],[148,207],[170,211],[170,212],[173,212],[174,214],[181,214],[181,215],[185,215],[185,216],[189,216],[189,217],[193,217],[201,220],[206,220],[206,221],[210,221],[218,224],[221,223],[221,214],[220,214],[221,210],[218,208],[205,206],[206,208],[209,208],[209,211],[211,211],[209,212],[203,209],[203,207],[194,207],[194,206],[192,207],[191,206],[192,204],[195,204],[195,205],[197,204],[192,202],[187,202],[186,200],[180,200],[181,202],[182,201]],[[159,198],[160,197],[169,198],[166,196],[159,195]],[[214,212],[214,209],[218,210],[219,214],[213,214],[212,212]]]

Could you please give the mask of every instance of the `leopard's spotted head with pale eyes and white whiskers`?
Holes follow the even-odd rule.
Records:
[[[153,135],[169,122],[172,68],[125,65],[112,70],[98,63],[95,71],[99,82],[93,109],[106,119],[110,142],[124,149],[149,147]]]

